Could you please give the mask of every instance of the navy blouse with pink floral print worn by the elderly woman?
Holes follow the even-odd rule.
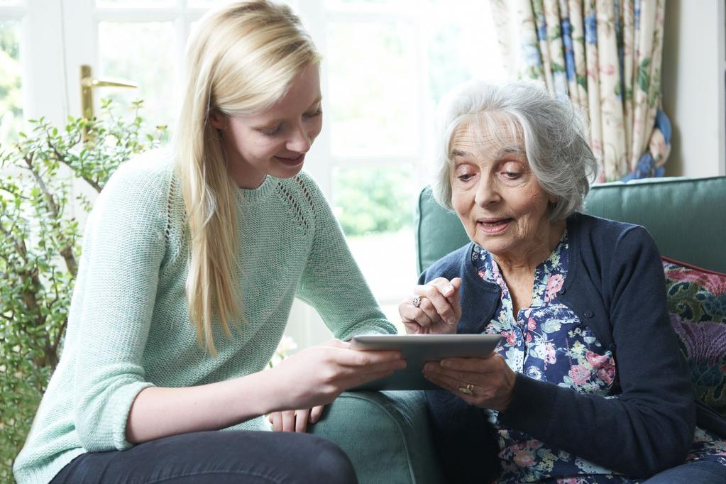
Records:
[[[555,250],[534,271],[531,305],[519,310],[515,318],[512,298],[499,266],[491,254],[475,245],[471,258],[478,274],[502,288],[502,298],[494,313],[496,319],[489,322],[484,333],[506,338],[497,350],[514,372],[580,393],[617,398],[611,392],[617,368],[610,350],[603,348],[590,327],[557,299],[567,276],[567,250],[565,231]],[[637,482],[547,445],[525,432],[503,427],[497,411],[489,411],[489,420],[499,434],[502,466],[499,483]],[[570,431],[576,431],[576,426]],[[726,442],[696,427],[687,460],[698,459],[726,465]]]

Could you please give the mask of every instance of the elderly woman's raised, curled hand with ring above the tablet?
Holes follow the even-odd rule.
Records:
[[[456,332],[461,318],[461,279],[437,277],[414,289],[414,295],[399,304],[399,313],[409,335],[442,335]]]

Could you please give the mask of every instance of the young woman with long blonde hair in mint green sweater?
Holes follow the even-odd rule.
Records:
[[[187,56],[174,149],[119,168],[89,217],[20,484],[353,483],[340,449],[260,432],[261,416],[302,430],[309,413],[294,409],[404,366],[342,341],[395,330],[301,172],[322,112],[319,54],[298,18],[264,0],[226,6]],[[338,339],[262,372],[295,296]]]

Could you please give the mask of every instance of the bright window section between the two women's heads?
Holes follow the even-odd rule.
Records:
[[[399,321],[417,278],[415,202],[429,181],[436,104],[469,78],[505,78],[489,7],[327,0],[301,15],[314,20],[306,25],[323,51],[327,88],[329,137],[314,174],[328,181],[321,185],[375,297]]]

